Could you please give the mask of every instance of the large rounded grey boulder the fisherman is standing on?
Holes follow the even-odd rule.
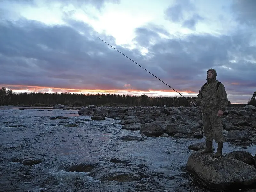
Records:
[[[227,156],[213,158],[211,153],[192,153],[186,170],[211,188],[234,189],[256,182],[256,169]]]

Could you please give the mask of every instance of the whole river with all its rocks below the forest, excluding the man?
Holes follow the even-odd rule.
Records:
[[[195,107],[1,108],[3,191],[216,192],[256,188],[255,108],[222,117],[223,156]],[[213,151],[216,151],[214,143]],[[234,188],[235,187],[235,188]],[[232,188],[232,189],[231,189]],[[251,192],[251,191],[250,191]]]

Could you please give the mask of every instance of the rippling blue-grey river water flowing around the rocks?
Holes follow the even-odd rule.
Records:
[[[69,118],[50,119],[56,116]],[[92,121],[90,117],[77,110],[0,109],[0,191],[216,191],[185,171],[193,153],[188,146],[204,138],[123,141],[121,136],[141,136],[140,131],[121,129],[119,120]],[[65,126],[70,123],[78,126]],[[224,154],[235,150],[254,156],[256,147],[224,144]],[[41,163],[23,165],[17,162],[22,158]],[[116,181],[124,173],[130,180]]]

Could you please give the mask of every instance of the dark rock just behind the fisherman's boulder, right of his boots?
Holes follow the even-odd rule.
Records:
[[[237,159],[248,165],[254,164],[254,159],[252,154],[247,151],[232,151],[230,153],[227,153],[225,156],[228,156],[233,159]]]

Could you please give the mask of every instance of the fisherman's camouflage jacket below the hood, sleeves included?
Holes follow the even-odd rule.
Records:
[[[212,112],[214,110],[222,110],[228,106],[228,98],[224,85],[221,83],[217,90],[217,83],[219,81],[214,79],[213,81],[208,81],[207,84],[201,87],[197,98],[192,102],[201,106],[202,112]],[[202,90],[203,88],[203,90]]]

